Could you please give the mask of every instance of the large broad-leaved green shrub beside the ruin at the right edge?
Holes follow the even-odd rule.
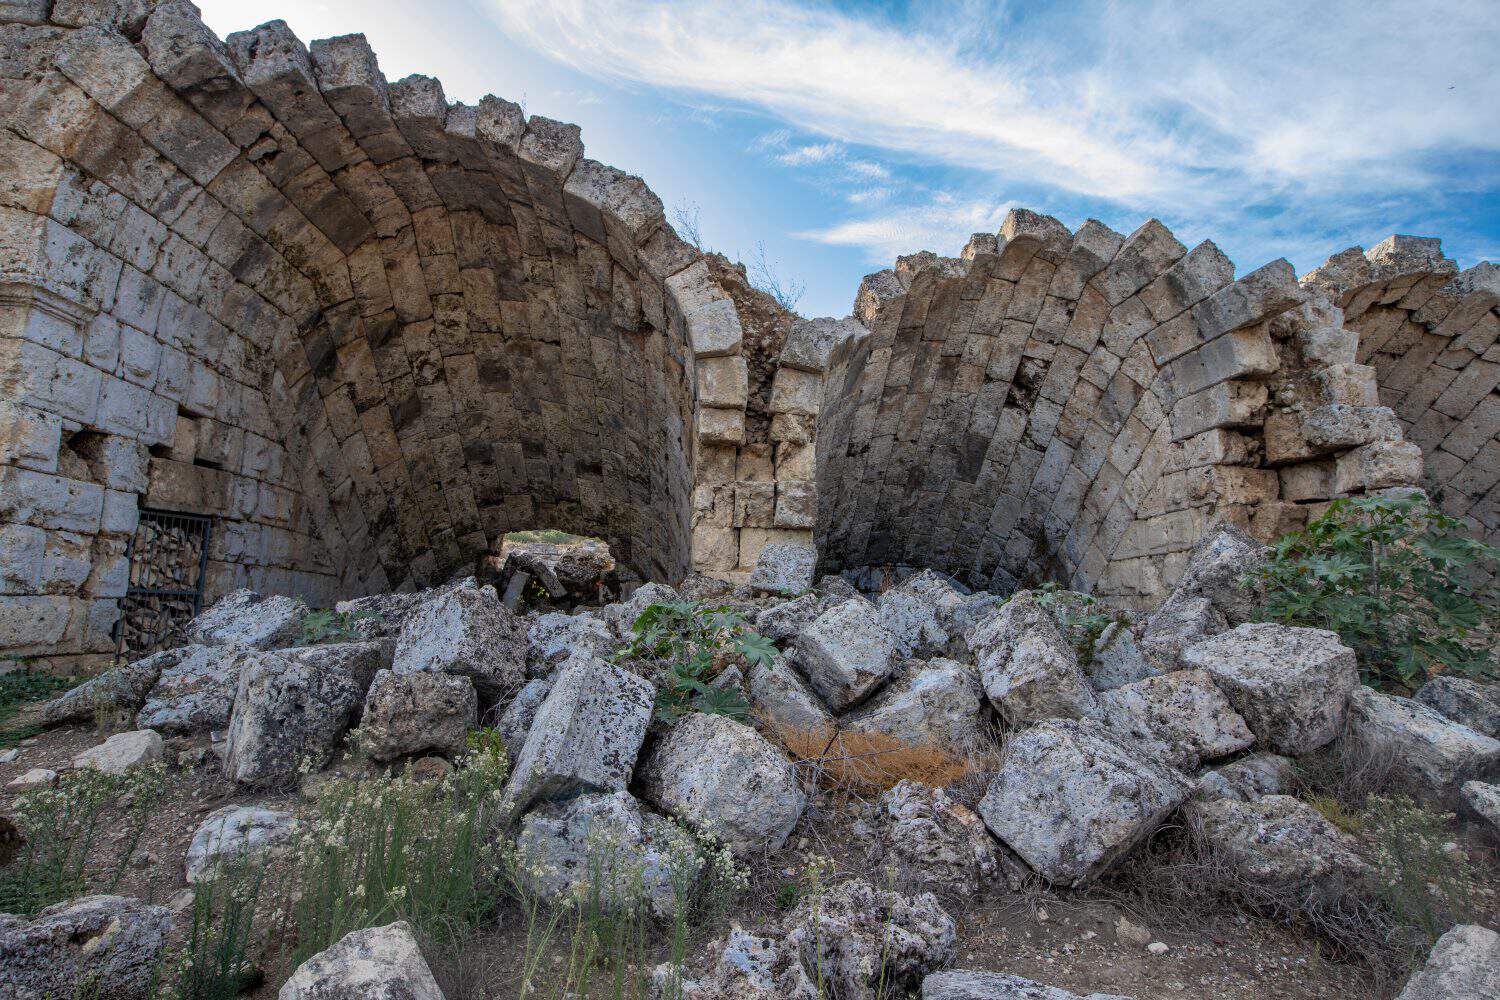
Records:
[[[1340,499],[1276,543],[1251,574],[1266,621],[1336,631],[1366,684],[1396,691],[1436,673],[1494,670],[1500,550],[1420,493]]]

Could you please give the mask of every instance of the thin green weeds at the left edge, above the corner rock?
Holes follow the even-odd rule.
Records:
[[[54,787],[22,793],[15,820],[26,843],[0,870],[0,913],[28,915],[86,892],[114,891],[156,810],[164,775],[159,765],[124,775],[80,768]],[[105,832],[122,835],[112,865],[90,870]]]

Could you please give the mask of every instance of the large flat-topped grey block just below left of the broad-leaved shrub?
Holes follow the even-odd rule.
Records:
[[[1186,646],[1182,664],[1208,670],[1260,745],[1290,756],[1338,736],[1359,685],[1354,651],[1322,628],[1238,625]]]

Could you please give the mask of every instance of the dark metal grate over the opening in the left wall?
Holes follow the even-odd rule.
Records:
[[[188,622],[202,610],[212,532],[212,517],[141,511],[130,538],[130,583],[116,625],[116,663],[186,642]]]

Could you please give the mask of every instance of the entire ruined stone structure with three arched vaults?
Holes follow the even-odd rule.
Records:
[[[1500,268],[1437,240],[1236,277],[1017,210],[802,319],[576,126],[358,34],[6,0],[0,108],[4,658],[93,666],[141,595],[429,588],[538,526],[644,580],[801,543],[1132,609],[1210,525],[1338,496],[1500,535]]]

